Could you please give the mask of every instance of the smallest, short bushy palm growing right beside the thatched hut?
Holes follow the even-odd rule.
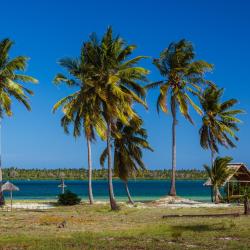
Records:
[[[212,197],[216,203],[221,200],[220,188],[223,186],[232,171],[228,164],[232,161],[231,157],[216,157],[211,167],[204,165],[212,186]]]

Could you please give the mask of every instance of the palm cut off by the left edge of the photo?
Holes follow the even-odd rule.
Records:
[[[13,46],[13,42],[6,38],[0,41],[0,129],[1,120],[6,114],[12,115],[11,103],[12,98],[21,102],[27,110],[31,110],[28,103],[28,95],[33,92],[23,85],[21,82],[37,83],[37,80],[31,76],[21,74],[27,67],[28,58],[25,56],[17,56],[13,59],[9,57],[9,51]],[[17,73],[18,72],[18,73]],[[0,152],[0,190],[2,186],[2,162]],[[0,191],[0,205],[4,203],[3,192]]]

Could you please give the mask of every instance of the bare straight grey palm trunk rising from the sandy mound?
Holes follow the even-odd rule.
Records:
[[[169,195],[176,196],[175,188],[175,172],[176,172],[176,101],[172,98],[172,176],[171,176],[171,188]]]

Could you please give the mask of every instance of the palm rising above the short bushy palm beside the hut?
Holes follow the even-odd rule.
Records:
[[[236,99],[221,101],[223,92],[224,89],[210,86],[199,98],[204,113],[199,130],[200,144],[202,148],[211,150],[212,163],[215,154],[219,152],[219,145],[226,148],[236,146],[232,139],[238,140],[237,123],[241,121],[235,116],[243,113],[243,110],[233,109],[238,102]]]

